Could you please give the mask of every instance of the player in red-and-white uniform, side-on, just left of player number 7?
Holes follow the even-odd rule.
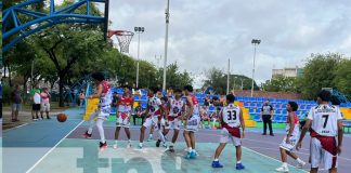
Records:
[[[287,156],[290,156],[298,162],[298,168],[302,168],[306,162],[303,162],[296,154],[292,152],[292,149],[296,145],[296,142],[299,139],[299,118],[296,115],[298,110],[298,104],[296,102],[288,102],[286,105],[286,110],[288,111],[287,119],[286,119],[286,136],[284,137],[283,142],[281,143],[281,157],[282,157],[282,167],[277,168],[277,172],[289,172],[287,167]]]

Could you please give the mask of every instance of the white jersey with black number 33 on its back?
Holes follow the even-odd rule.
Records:
[[[240,107],[230,104],[222,110],[223,122],[231,128],[240,127]]]

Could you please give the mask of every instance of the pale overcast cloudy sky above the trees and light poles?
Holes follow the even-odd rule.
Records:
[[[109,29],[141,35],[140,58],[164,57],[167,0],[110,0]],[[168,64],[200,76],[212,66],[251,77],[257,48],[256,80],[271,78],[272,68],[303,66],[311,53],[351,55],[350,0],[170,0]],[[136,57],[138,36],[130,44]],[[159,63],[162,65],[162,63]],[[202,85],[200,78],[196,86]]]

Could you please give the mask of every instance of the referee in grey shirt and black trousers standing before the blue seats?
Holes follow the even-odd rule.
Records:
[[[261,108],[261,119],[263,121],[263,133],[262,135],[266,135],[266,124],[270,128],[270,135],[274,136],[272,130],[272,119],[273,119],[273,107],[270,105],[270,101],[265,101]]]

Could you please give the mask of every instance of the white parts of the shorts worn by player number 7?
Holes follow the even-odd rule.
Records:
[[[323,149],[321,142],[315,137],[311,138],[310,152],[311,168],[320,168],[320,164],[322,163],[325,170],[329,170],[333,168],[333,159],[335,159],[334,168],[338,168],[337,155],[333,156],[330,152]]]

